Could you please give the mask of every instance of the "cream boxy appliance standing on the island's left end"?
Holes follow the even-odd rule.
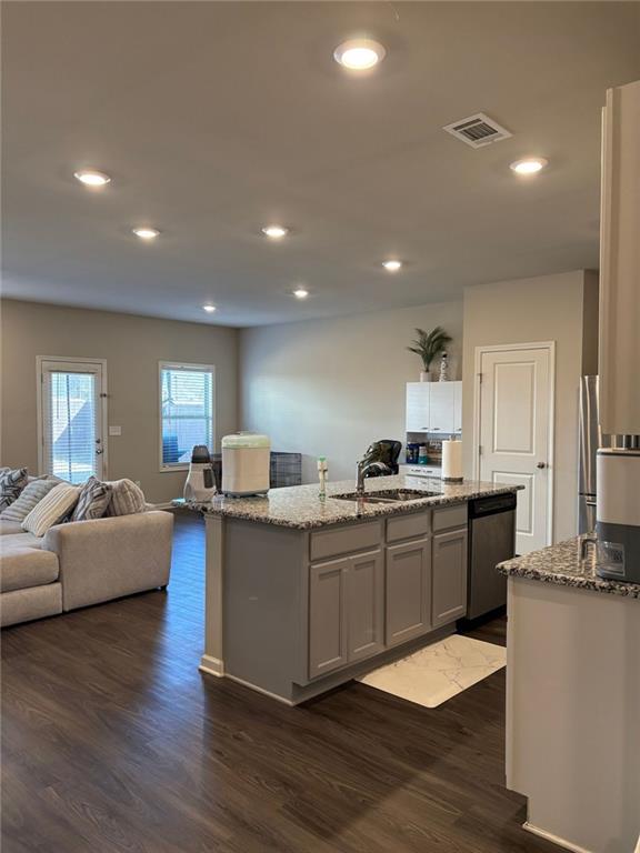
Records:
[[[271,440],[238,432],[222,439],[222,492],[240,498],[269,491]]]

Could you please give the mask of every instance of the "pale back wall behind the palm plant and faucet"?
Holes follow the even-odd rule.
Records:
[[[451,378],[460,378],[462,303],[243,329],[240,333],[243,429],[272,439],[274,450],[304,454],[303,478],[329,460],[331,480],[353,478],[376,439],[404,440],[404,383],[420,360],[406,351],[414,327],[452,335]]]

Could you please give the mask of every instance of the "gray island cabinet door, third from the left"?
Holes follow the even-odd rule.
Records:
[[[387,548],[387,645],[431,628],[431,543],[429,539]]]

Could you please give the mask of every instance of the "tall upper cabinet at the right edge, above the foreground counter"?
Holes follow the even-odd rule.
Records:
[[[600,425],[640,434],[640,80],[607,92],[600,225]]]

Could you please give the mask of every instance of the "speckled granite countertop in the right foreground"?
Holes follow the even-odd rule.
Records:
[[[640,599],[640,583],[623,583],[599,578],[596,574],[596,550],[590,548],[589,556],[580,560],[580,543],[581,538],[576,536],[541,551],[506,560],[498,564],[498,571],[512,578],[526,578],[530,581],[556,583],[578,590]]]

